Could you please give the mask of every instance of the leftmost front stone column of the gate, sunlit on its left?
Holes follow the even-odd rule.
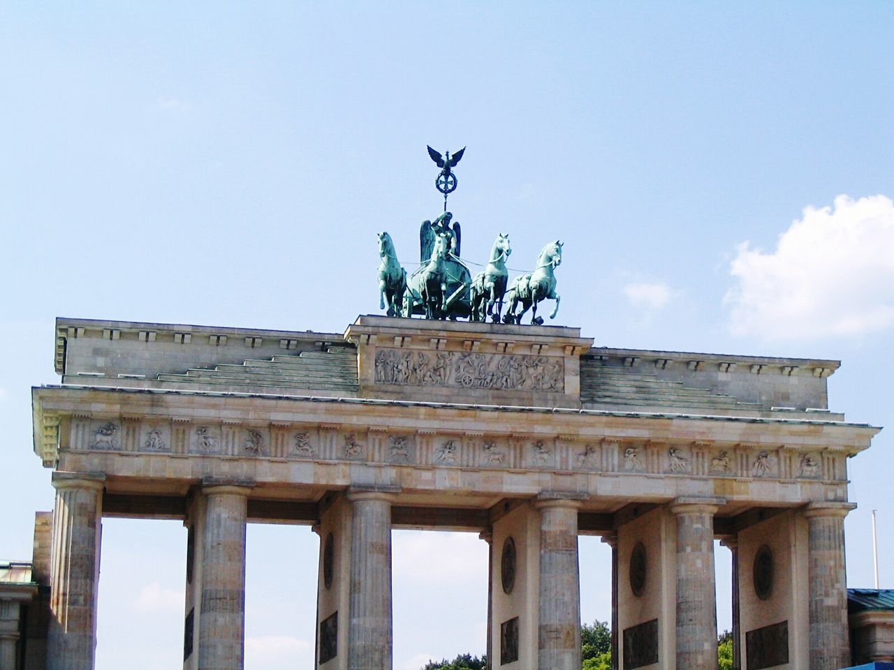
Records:
[[[47,670],[92,670],[103,475],[53,473],[53,555]]]

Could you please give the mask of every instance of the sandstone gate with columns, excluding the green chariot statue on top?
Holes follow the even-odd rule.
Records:
[[[55,364],[33,390],[51,670],[94,666],[109,516],[188,528],[185,670],[243,667],[249,522],[318,532],[324,670],[392,667],[394,528],[489,543],[494,668],[579,670],[580,534],[611,545],[618,668],[717,667],[717,539],[737,667],[849,665],[847,459],[877,429],[828,408],[836,361],[360,316],[343,334],[59,319]]]

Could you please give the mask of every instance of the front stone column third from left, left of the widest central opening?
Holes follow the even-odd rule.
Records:
[[[393,495],[349,491],[349,670],[392,668],[391,506]]]

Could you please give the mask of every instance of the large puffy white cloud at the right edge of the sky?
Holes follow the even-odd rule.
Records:
[[[724,303],[730,328],[764,339],[820,339],[883,331],[894,323],[894,202],[835,198],[764,253],[739,245]]]

